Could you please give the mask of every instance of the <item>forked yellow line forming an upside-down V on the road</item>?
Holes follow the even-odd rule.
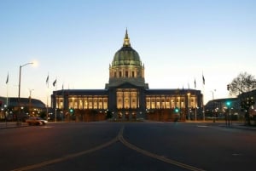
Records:
[[[124,137],[123,137],[124,129],[125,129],[125,126],[122,126],[122,128],[120,128],[120,130],[119,130],[119,134],[117,135],[117,137],[113,138],[113,140],[110,140],[107,143],[104,143],[102,145],[98,145],[98,146],[96,146],[94,148],[91,148],[89,150],[80,151],[78,153],[70,154],[70,155],[67,155],[67,156],[64,156],[64,157],[55,158],[55,159],[52,159],[52,160],[49,160],[49,161],[45,161],[45,162],[40,162],[40,163],[33,164],[33,165],[30,165],[30,166],[26,166],[26,167],[23,167],[23,168],[16,168],[16,169],[14,169],[12,171],[26,171],[26,170],[31,170],[31,169],[34,169],[34,168],[42,168],[42,167],[44,167],[46,165],[54,164],[56,162],[64,162],[64,161],[72,159],[74,157],[79,157],[79,156],[88,154],[88,153],[93,152],[93,151],[101,150],[102,148],[105,148],[108,145],[112,145],[113,143],[115,143],[117,141],[120,141],[121,143],[123,143],[123,145],[125,145],[128,148],[130,148],[130,149],[132,149],[134,151],[137,151],[137,152],[139,152],[139,153],[141,153],[141,154],[143,154],[145,156],[152,157],[152,158],[155,158],[155,159],[160,160],[162,162],[166,162],[166,163],[175,165],[175,166],[177,166],[179,168],[186,168],[186,169],[191,170],[191,171],[203,171],[203,169],[201,169],[201,168],[195,168],[195,167],[190,166],[188,164],[184,164],[182,162],[177,162],[177,161],[174,161],[172,159],[159,156],[159,155],[154,154],[152,152],[145,151],[145,150],[137,147],[136,145],[132,145],[131,143],[127,142],[124,139]]]

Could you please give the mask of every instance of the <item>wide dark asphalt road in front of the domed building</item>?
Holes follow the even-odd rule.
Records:
[[[255,170],[256,131],[205,123],[0,129],[0,170]]]

